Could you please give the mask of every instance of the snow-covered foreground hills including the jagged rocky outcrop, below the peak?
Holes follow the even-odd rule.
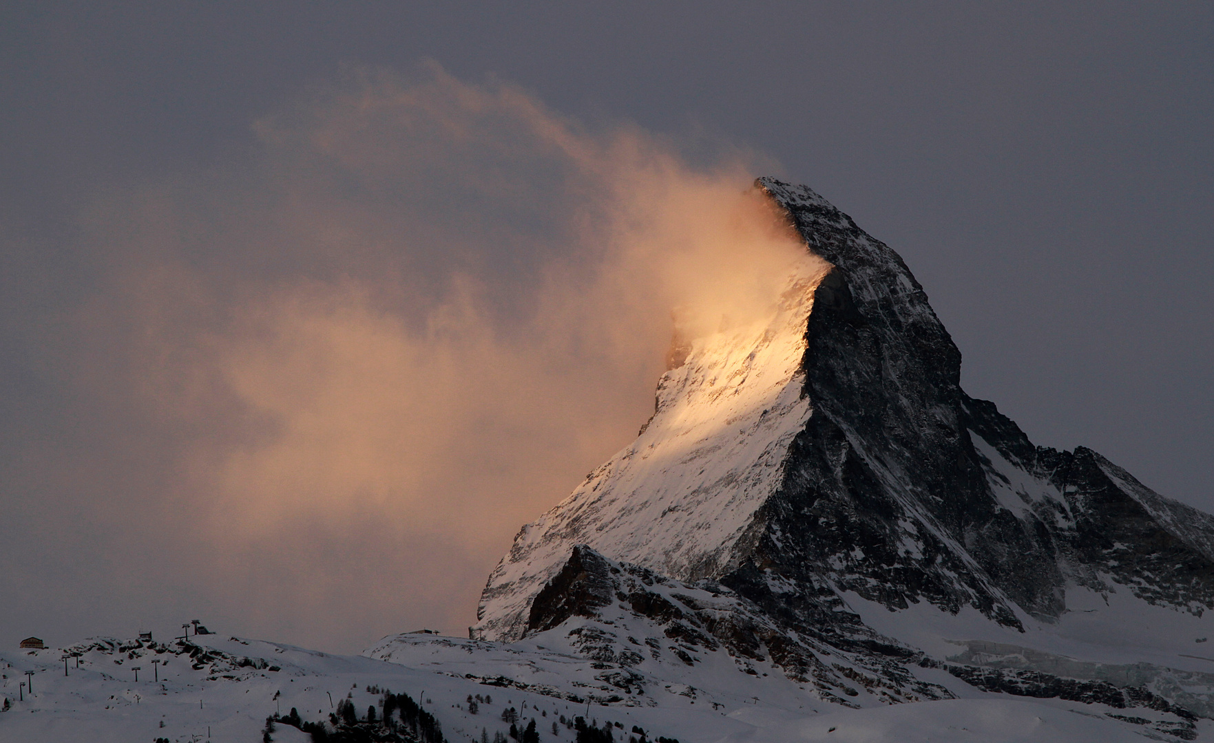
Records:
[[[872,628],[866,652],[790,633],[724,585],[579,547],[515,642],[418,631],[335,656],[204,634],[0,652],[0,742],[255,742],[293,709],[324,733],[279,721],[271,739],[419,741],[384,726],[386,692],[420,701],[449,743],[514,743],[511,710],[545,743],[575,743],[578,718],[619,743],[1214,739],[1187,711],[1210,716],[1214,658],[1197,640],[1212,618],[1110,598],[1020,633],[975,610],[849,595]],[[376,724],[340,725],[344,699],[363,720],[375,707]],[[354,737],[368,731],[382,737]]]

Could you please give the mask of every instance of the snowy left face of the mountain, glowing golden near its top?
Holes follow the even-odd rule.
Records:
[[[522,636],[531,599],[572,544],[679,579],[731,566],[811,412],[799,366],[828,270],[806,252],[768,318],[691,341],[658,382],[656,412],[636,441],[518,532],[489,576],[475,636]]]

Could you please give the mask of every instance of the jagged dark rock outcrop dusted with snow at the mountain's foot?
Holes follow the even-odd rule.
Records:
[[[572,623],[580,617],[597,623]],[[615,631],[628,627],[642,638]],[[884,702],[948,699],[937,684],[917,679],[907,665],[923,653],[855,623],[845,634],[850,647],[824,641],[819,633],[790,631],[761,607],[714,581],[688,585],[653,571],[615,562],[585,544],[573,548],[568,561],[532,601],[527,635],[561,631],[583,656],[622,669],[664,655],[688,667],[699,656],[724,651],[742,673],[758,675],[754,663],[770,662],[816,698],[853,707],[864,695]],[[835,635],[836,638],[839,635]],[[642,645],[643,642],[643,645]],[[874,652],[874,650],[879,652]],[[642,687],[645,678],[630,671],[625,684]],[[619,685],[619,674],[612,676]]]

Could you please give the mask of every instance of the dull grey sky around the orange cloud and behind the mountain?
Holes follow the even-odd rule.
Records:
[[[391,553],[362,544],[365,535],[348,549],[325,542],[334,560],[353,560],[337,554],[346,549],[365,565],[342,573],[354,606],[324,629],[288,616],[285,599],[248,617],[223,608],[217,584],[191,584],[171,539],[118,547],[147,538],[130,522],[169,524],[153,493],[171,484],[141,459],[137,431],[115,434],[114,422],[129,423],[114,410],[125,402],[96,379],[121,373],[91,376],[109,364],[106,349],[66,319],[109,291],[98,276],[113,262],[106,246],[121,241],[113,215],[131,215],[132,234],[147,230],[143,212],[112,206],[115,193],[168,188],[180,199],[195,188],[206,194],[191,207],[195,222],[216,183],[238,183],[232,190],[255,201],[257,183],[274,181],[242,170],[266,158],[254,121],[323,98],[351,69],[410,75],[426,59],[467,84],[521,86],[591,130],[631,121],[669,135],[693,164],[711,161],[722,141],[758,150],[906,258],[964,354],[970,394],[994,400],[1038,444],[1090,446],[1163,495],[1214,510],[1208,2],[7,2],[0,595],[15,599],[0,601],[0,634],[70,641],[210,611],[231,631],[357,650],[376,633],[471,621],[467,596],[515,524],[477,554],[443,551],[441,531],[426,536],[463,588],[410,596],[398,616],[357,600],[395,579],[376,565]],[[215,204],[222,219],[248,217]],[[180,257],[204,273],[288,270],[272,251],[245,261],[233,247],[221,261],[215,245],[199,239]],[[460,259],[494,267],[504,285],[526,282],[529,258],[510,245]],[[189,440],[192,424],[171,436]],[[87,487],[67,463],[92,473]],[[595,464],[562,463],[574,473]],[[124,495],[136,492],[146,497]],[[118,515],[98,516],[98,501]],[[262,559],[289,571],[283,554]],[[158,555],[164,566],[153,570]]]

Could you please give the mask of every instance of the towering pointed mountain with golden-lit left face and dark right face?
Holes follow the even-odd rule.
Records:
[[[972,611],[1012,633],[1057,624],[1068,593],[1214,608],[1214,516],[1090,450],[1033,446],[961,390],[960,353],[890,247],[809,188],[756,188],[806,245],[778,308],[680,343],[637,440],[518,533],[473,636],[517,640],[588,605],[594,591],[569,593],[590,590],[569,578],[579,544],[719,585],[810,648],[785,667],[800,675],[812,648],[914,656],[857,602]]]

